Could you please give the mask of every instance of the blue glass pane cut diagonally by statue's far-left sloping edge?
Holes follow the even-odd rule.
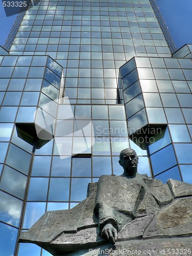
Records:
[[[26,205],[23,229],[33,226],[45,212],[46,203],[28,202]]]

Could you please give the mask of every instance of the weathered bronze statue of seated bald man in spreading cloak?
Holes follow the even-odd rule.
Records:
[[[88,197],[72,209],[45,212],[19,242],[35,243],[53,255],[103,255],[98,248],[119,249],[114,255],[122,255],[122,249],[155,249],[161,255],[169,248],[190,254],[192,185],[172,179],[163,184],[138,174],[131,148],[120,153],[119,164],[121,176],[103,175],[98,184],[90,183]]]

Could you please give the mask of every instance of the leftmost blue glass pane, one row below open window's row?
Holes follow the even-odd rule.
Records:
[[[46,201],[49,178],[31,178],[28,201]]]

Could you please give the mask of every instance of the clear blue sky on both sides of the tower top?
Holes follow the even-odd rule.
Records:
[[[184,44],[192,44],[192,0],[156,0],[166,26],[179,49]],[[6,17],[0,1],[0,45],[5,44],[16,15]]]

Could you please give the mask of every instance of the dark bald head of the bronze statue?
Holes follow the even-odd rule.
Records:
[[[126,176],[134,176],[137,173],[138,157],[132,148],[125,148],[119,155],[119,164],[124,168]]]

